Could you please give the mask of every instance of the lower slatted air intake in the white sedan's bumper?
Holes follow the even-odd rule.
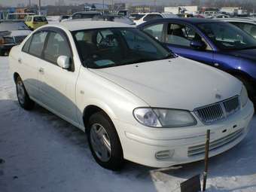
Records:
[[[221,139],[217,139],[213,142],[210,142],[209,143],[209,151],[211,151],[213,149],[221,148],[222,146],[235,141],[236,139],[239,138],[239,136],[242,136],[243,130],[244,129],[237,130],[234,133],[231,133],[230,135],[224,136]],[[203,153],[205,153],[205,144],[196,145],[196,146],[188,148],[187,156],[191,157],[191,156],[203,154]]]

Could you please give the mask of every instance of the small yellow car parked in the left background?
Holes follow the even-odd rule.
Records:
[[[26,17],[25,24],[29,27],[29,29],[35,30],[40,26],[47,25],[48,22],[45,16],[29,15]]]

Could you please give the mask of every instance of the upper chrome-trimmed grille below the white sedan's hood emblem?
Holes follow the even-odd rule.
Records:
[[[203,123],[212,124],[227,119],[227,117],[235,114],[239,109],[239,96],[234,96],[222,102],[196,108],[194,112]]]

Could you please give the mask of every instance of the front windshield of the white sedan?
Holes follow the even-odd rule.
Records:
[[[135,28],[73,32],[84,65],[93,69],[174,57],[154,38]]]

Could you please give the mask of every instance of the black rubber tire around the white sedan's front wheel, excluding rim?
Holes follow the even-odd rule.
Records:
[[[103,162],[102,160],[97,157],[95,151],[93,151],[93,147],[91,144],[90,138],[90,131],[91,126],[94,123],[99,123],[102,125],[106,132],[108,133],[110,143],[111,143],[111,157],[107,162]],[[104,167],[105,169],[111,169],[113,171],[118,171],[123,167],[124,160],[123,160],[123,149],[120,144],[120,139],[118,137],[117,131],[114,128],[114,124],[110,120],[107,114],[103,111],[96,112],[92,114],[89,119],[89,130],[87,131],[87,138],[90,145],[90,151],[93,154],[94,159],[100,166]]]

